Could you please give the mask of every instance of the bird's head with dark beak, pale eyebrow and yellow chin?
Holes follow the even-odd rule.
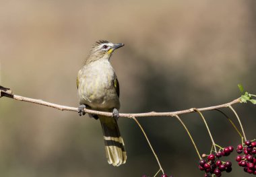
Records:
[[[90,55],[88,56],[87,62],[96,61],[98,59],[110,59],[113,52],[124,46],[123,43],[114,44],[112,42],[108,42],[107,40],[98,40],[92,46]]]

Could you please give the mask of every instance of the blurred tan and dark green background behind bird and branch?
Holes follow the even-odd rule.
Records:
[[[76,76],[96,40],[123,42],[111,62],[120,112],[168,112],[230,102],[237,84],[256,93],[256,1],[13,1],[0,5],[0,85],[15,94],[78,106]],[[255,106],[236,104],[248,139]],[[222,109],[234,122],[234,114]],[[222,114],[204,112],[222,147],[241,139]],[[198,114],[181,115],[200,153],[211,141]],[[138,118],[166,174],[203,176],[176,118]],[[127,164],[108,165],[100,122],[75,112],[0,99],[0,176],[154,176],[139,127],[119,118]],[[250,176],[231,155],[223,176]],[[227,158],[224,160],[228,160]]]

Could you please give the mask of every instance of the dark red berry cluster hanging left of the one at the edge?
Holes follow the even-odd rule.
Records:
[[[205,171],[205,177],[210,176],[217,176],[220,177],[222,175],[222,172],[231,172],[232,171],[232,163],[222,162],[220,160],[220,157],[222,156],[228,156],[230,153],[234,150],[234,147],[228,146],[223,149],[220,149],[217,153],[212,153],[210,155],[203,155],[203,157],[206,157],[205,159],[199,160],[199,170]],[[218,160],[216,160],[216,157]]]

